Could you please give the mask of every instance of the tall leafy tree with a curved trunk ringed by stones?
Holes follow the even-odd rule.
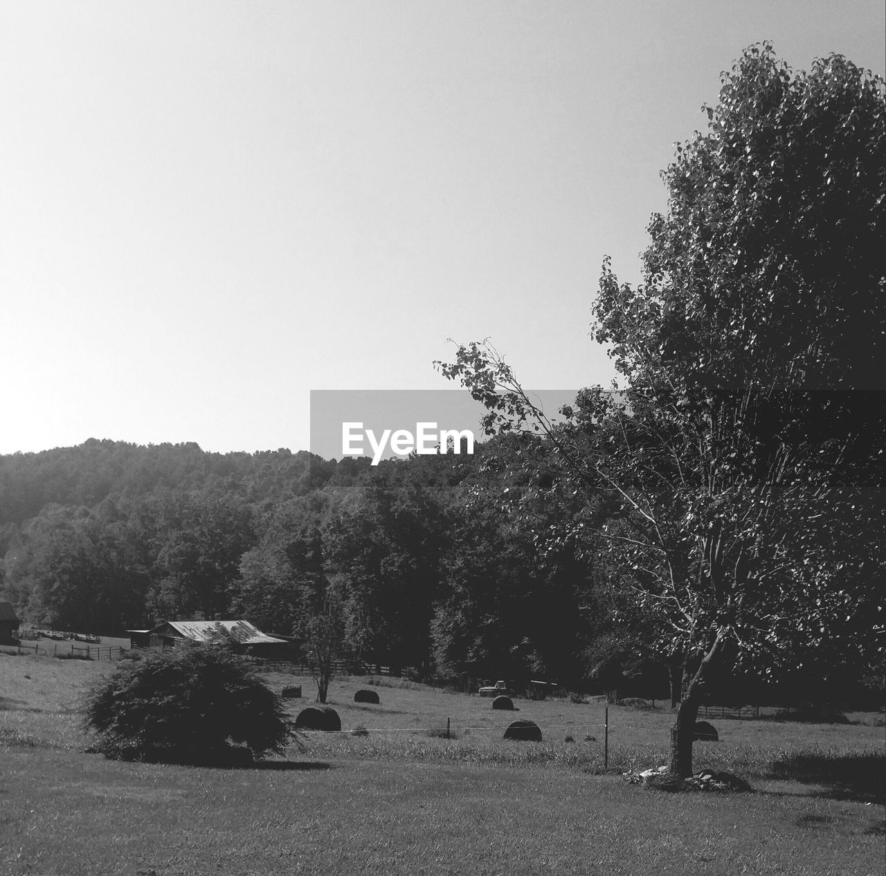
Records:
[[[883,407],[859,392],[886,339],[883,82],[836,55],[795,74],[753,46],[704,109],[664,172],[642,284],[604,265],[596,337],[622,391],[579,394],[567,426],[540,418],[577,489],[615,504],[601,544],[684,669],[682,776],[715,670],[875,647],[886,567]],[[491,348],[444,372],[490,425],[538,414]]]

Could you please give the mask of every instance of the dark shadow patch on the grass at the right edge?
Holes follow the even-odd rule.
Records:
[[[886,802],[886,755],[861,751],[848,755],[798,752],[779,758],[770,778],[821,786],[817,796],[835,800]]]

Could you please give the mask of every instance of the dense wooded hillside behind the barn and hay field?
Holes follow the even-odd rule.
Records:
[[[334,594],[355,661],[578,686],[593,564],[521,528],[539,475],[509,459],[527,442],[540,462],[529,438],[377,467],[108,441],[0,458],[4,596],[60,629],[237,616],[304,637]]]

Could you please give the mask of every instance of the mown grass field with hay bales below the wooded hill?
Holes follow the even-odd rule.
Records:
[[[663,794],[617,773],[661,763],[672,715],[490,700],[368,679],[330,688],[346,731],[248,770],[115,763],[83,752],[83,693],[105,663],[0,654],[0,873],[786,873],[881,876],[884,739],[864,724],[717,721],[696,766],[753,794]],[[276,689],[309,679],[268,674]],[[378,681],[378,679],[374,679]],[[397,684],[384,679],[383,682]],[[446,727],[454,739],[434,735]],[[510,720],[542,743],[509,743]],[[861,716],[858,716],[861,717]],[[567,742],[571,736],[575,741]],[[595,741],[586,741],[586,736]]]

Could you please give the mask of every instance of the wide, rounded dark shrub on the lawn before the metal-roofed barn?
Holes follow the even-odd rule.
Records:
[[[245,763],[291,736],[249,664],[206,645],[120,663],[89,695],[86,723],[106,757],[159,763]]]

